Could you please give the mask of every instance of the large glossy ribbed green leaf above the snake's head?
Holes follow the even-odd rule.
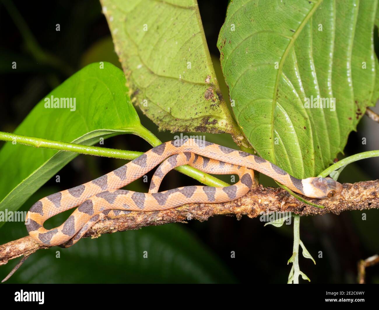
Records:
[[[222,70],[236,120],[262,157],[305,178],[343,151],[377,100],[376,9],[358,0],[230,3]],[[311,96],[335,98],[335,111],[305,107]]]

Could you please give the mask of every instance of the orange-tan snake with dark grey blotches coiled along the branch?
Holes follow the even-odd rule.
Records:
[[[157,165],[148,193],[120,189]],[[193,185],[158,192],[164,176],[181,165],[211,174],[237,174],[239,181],[227,187]],[[37,243],[68,248],[105,217],[132,211],[166,210],[188,203],[222,203],[238,199],[250,190],[254,170],[309,198],[330,198],[342,191],[342,185],[332,178],[297,179],[254,154],[202,139],[176,139],[155,146],[97,179],[40,199],[27,212],[25,224]],[[46,220],[74,207],[77,209],[61,226],[44,228]]]

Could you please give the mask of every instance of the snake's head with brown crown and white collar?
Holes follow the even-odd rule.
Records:
[[[305,196],[312,198],[331,198],[342,191],[341,183],[332,178],[307,178],[303,180]]]

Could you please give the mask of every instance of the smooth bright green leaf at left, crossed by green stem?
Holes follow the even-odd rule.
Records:
[[[125,76],[105,62],[75,73],[45,98],[76,98],[76,109],[45,108],[45,98],[14,131],[45,139],[93,145],[121,133],[146,131],[130,103]],[[0,150],[0,211],[17,210],[77,153],[7,142]],[[0,223],[2,226],[3,223]]]

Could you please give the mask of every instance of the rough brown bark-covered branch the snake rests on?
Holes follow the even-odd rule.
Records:
[[[340,214],[346,210],[379,209],[379,180],[343,184],[341,195],[330,199],[310,199],[324,209],[302,203],[282,188],[253,185],[245,196],[226,203],[194,203],[174,209],[152,212],[131,211],[126,215],[106,218],[96,223],[84,237],[97,238],[102,234],[139,229],[144,226],[168,223],[186,223],[188,220],[206,221],[215,215],[243,215],[258,217],[263,212],[293,212],[301,216]],[[0,245],[0,265],[22,255],[30,255],[38,249],[49,247],[36,243],[30,236]]]

